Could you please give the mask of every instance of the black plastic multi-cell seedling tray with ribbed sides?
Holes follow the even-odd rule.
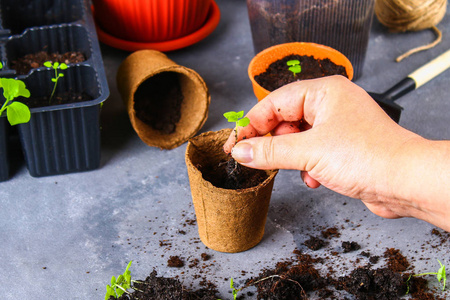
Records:
[[[100,108],[109,89],[90,1],[2,0],[0,21],[0,57],[4,66],[0,77],[24,81],[31,97],[51,94],[54,70],[38,67],[19,75],[11,68],[12,61],[40,51],[79,51],[86,58],[68,64],[55,94],[84,93],[92,100],[31,108],[30,122],[17,125],[30,174],[48,176],[98,168]],[[0,103],[3,101],[0,99]],[[9,177],[8,127],[4,114],[0,117],[0,181]]]

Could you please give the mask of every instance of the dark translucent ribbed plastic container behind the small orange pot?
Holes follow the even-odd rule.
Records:
[[[375,0],[247,0],[255,53],[312,42],[343,53],[362,75]]]

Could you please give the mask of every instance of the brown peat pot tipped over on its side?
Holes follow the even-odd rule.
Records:
[[[120,65],[117,86],[131,125],[149,146],[173,149],[193,137],[208,117],[210,95],[194,70],[165,54],[141,50]]]

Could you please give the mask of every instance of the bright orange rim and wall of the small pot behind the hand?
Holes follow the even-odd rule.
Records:
[[[271,63],[291,54],[309,55],[315,59],[328,58],[336,65],[344,66],[348,78],[350,80],[353,78],[353,66],[351,62],[344,54],[333,48],[315,43],[295,42],[280,44],[259,52],[253,57],[248,66],[248,76],[250,77],[253,92],[256,98],[258,98],[258,101],[264,99],[270,92],[255,81],[255,76],[265,72]]]

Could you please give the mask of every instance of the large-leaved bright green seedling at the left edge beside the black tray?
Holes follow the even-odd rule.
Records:
[[[0,69],[3,65],[0,63]],[[13,78],[0,78],[0,88],[3,89],[5,102],[0,108],[0,116],[6,110],[6,117],[11,126],[27,123],[30,121],[31,113],[28,106],[13,100],[17,97],[30,97],[30,91],[22,80]]]

